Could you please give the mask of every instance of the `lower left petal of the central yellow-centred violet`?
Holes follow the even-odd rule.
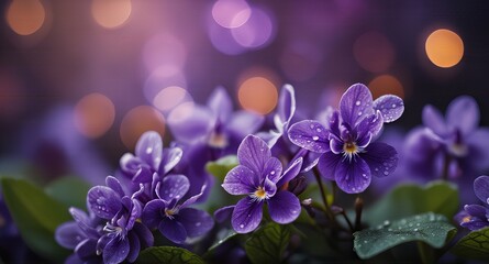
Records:
[[[253,201],[252,198],[241,199],[231,217],[231,226],[237,233],[249,233],[262,222],[263,201]]]

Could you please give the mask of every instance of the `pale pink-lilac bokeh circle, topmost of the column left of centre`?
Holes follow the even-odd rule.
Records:
[[[149,72],[165,68],[168,75],[175,75],[184,68],[186,59],[186,47],[169,34],[153,36],[143,48],[143,62]]]

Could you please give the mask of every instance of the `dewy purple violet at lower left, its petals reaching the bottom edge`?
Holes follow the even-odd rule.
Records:
[[[134,197],[124,195],[116,178],[108,176],[105,185],[92,187],[87,195],[87,204],[93,213],[108,220],[97,242],[97,253],[102,254],[104,263],[134,262],[140,250],[154,242],[147,227],[137,221],[142,205]]]

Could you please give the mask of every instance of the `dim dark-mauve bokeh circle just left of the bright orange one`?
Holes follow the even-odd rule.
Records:
[[[353,45],[357,63],[371,73],[382,73],[392,65],[396,53],[390,41],[379,32],[360,35]]]

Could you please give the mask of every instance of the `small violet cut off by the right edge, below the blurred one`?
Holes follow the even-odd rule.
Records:
[[[464,228],[479,230],[489,227],[489,176],[482,175],[474,180],[474,193],[484,206],[466,205],[455,220]]]

